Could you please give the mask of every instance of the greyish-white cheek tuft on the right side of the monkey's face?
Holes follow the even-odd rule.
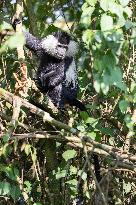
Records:
[[[66,56],[74,56],[78,52],[78,44],[75,41],[70,41]]]

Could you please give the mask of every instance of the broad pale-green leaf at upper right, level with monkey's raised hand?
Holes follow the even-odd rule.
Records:
[[[106,14],[103,14],[101,16],[101,30],[102,31],[109,31],[113,29],[113,19],[111,16],[108,16]]]

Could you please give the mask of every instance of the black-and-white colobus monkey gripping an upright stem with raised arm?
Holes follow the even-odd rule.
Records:
[[[14,29],[18,23],[20,20],[15,19]],[[63,31],[57,31],[42,39],[29,32],[24,32],[24,36],[26,47],[33,51],[40,61],[35,77],[39,90],[59,109],[69,104],[86,111],[85,106],[76,99],[78,79],[74,56],[77,53],[77,43]]]

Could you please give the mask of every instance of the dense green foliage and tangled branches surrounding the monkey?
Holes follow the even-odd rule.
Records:
[[[0,205],[136,204],[135,14],[129,0],[0,1]],[[13,16],[36,36],[59,27],[78,41],[78,98],[89,115],[49,107]]]

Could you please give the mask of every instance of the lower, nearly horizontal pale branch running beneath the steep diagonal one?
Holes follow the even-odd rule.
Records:
[[[31,133],[24,133],[24,134],[14,134],[12,138],[18,138],[18,139],[25,139],[25,138],[36,138],[36,139],[51,139],[51,140],[57,140],[59,142],[65,141],[68,143],[68,145],[83,149],[83,143],[82,140],[76,136],[66,136],[61,134],[49,134],[48,132],[41,131],[41,132],[31,132]],[[133,164],[127,162],[126,160],[130,160],[133,162],[136,162],[136,156],[128,155],[128,154],[122,154],[120,155],[120,158],[118,160],[115,160],[110,153],[99,149],[99,148],[93,148],[92,144],[86,143],[87,149],[90,152],[94,152],[95,154],[101,155],[103,157],[110,157],[112,161],[110,162],[111,165],[126,168],[129,170],[135,170],[136,166],[133,166]],[[108,146],[108,145],[107,145]],[[110,146],[109,146],[110,147]]]

